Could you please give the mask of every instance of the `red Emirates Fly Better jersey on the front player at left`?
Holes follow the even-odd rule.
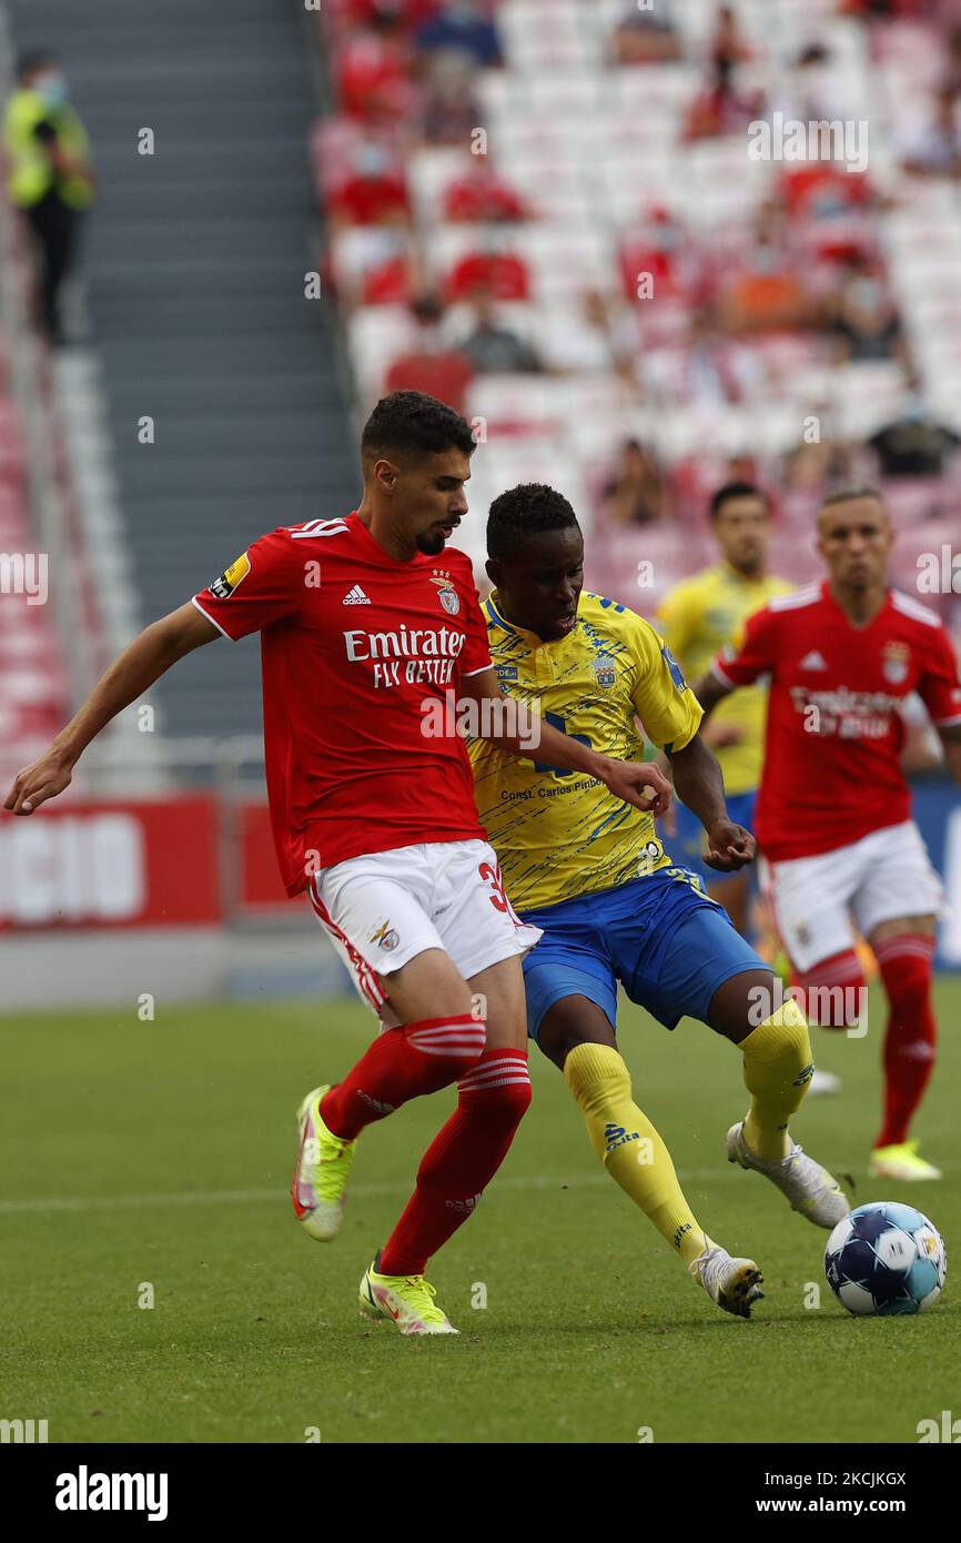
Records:
[[[403,563],[356,512],[307,520],[262,535],[193,603],[234,642],[261,633],[267,793],[288,895],[362,853],[483,838],[457,714],[437,707],[491,667],[464,552]]]

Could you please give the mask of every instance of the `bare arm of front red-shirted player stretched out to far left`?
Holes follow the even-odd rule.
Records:
[[[3,807],[14,815],[32,815],[48,798],[56,798],[69,787],[80,755],[111,717],[136,702],[140,693],[159,680],[177,659],[201,643],[211,643],[214,637],[221,637],[217,628],[190,603],[145,626],[139,637],[117,654],[49,750],[17,773]]]

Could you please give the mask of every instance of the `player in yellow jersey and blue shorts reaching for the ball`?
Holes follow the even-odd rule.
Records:
[[[669,648],[623,605],[582,594],[583,539],[568,500],[541,485],[501,494],[487,551],[495,589],[483,609],[501,690],[538,702],[549,724],[611,756],[639,755],[639,716],[706,832],[710,867],[750,863],[753,838],[728,816],[720,768],[699,734],[700,707]],[[790,998],[773,1008],[770,966],[699,876],[671,863],[649,813],[625,809],[549,753],[531,764],[475,741],[470,758],[514,904],[545,934],[524,961],[528,1032],[563,1071],[611,1177],[711,1299],[747,1318],[760,1271],[706,1236],[634,1103],[615,1038],[617,983],[668,1029],[690,1014],[739,1046],[751,1103],[728,1131],[728,1159],[831,1228],[847,1200],[788,1136],[811,1075],[804,1015]]]

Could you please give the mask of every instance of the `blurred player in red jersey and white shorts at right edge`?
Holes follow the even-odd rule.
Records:
[[[892,542],[876,491],[831,494],[818,515],[827,580],[757,611],[694,691],[711,713],[730,691],[771,677],[756,830],[777,930],[808,1015],[827,1028],[859,1017],[853,924],[870,943],[890,1004],[870,1171],[912,1180],[941,1177],[909,1129],[935,1062],[942,889],[910,818],[902,707],[916,691],[961,782],[961,684],[936,613],[889,588]]]

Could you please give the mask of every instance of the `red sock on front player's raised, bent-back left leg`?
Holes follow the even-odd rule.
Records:
[[[401,1103],[446,1088],[478,1060],[487,1025],[469,1012],[449,1018],[420,1018],[400,1029],[384,1029],[342,1082],[321,1100],[324,1125],[353,1140],[370,1125],[393,1114]]]

